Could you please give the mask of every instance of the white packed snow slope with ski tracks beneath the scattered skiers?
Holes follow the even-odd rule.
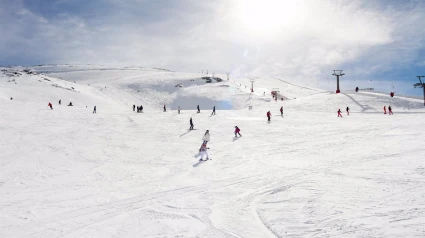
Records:
[[[0,237],[425,236],[420,99],[277,78],[251,93],[249,79],[140,67],[1,69]],[[214,103],[231,110],[211,116]]]

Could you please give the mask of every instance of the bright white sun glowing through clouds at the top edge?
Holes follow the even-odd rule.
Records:
[[[299,6],[293,0],[238,0],[233,11],[248,31],[268,34],[297,20]]]

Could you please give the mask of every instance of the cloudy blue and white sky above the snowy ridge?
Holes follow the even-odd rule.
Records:
[[[421,0],[0,0],[0,65],[102,64],[420,94]]]

